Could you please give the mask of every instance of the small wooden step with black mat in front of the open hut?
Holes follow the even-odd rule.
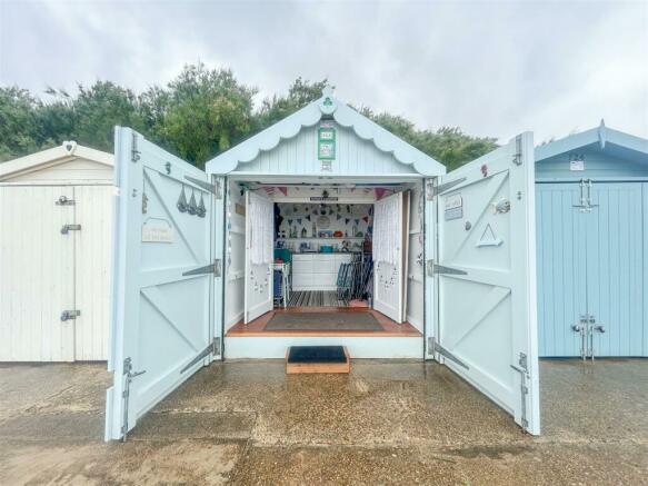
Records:
[[[286,373],[349,373],[351,359],[346,346],[290,346]]]

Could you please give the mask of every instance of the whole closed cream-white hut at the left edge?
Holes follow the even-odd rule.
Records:
[[[112,169],[74,141],[0,163],[0,361],[106,359]]]

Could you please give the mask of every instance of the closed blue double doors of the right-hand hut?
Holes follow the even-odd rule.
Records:
[[[644,186],[536,186],[540,356],[648,354]]]

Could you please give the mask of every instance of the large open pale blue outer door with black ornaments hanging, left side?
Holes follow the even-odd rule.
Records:
[[[222,323],[215,319],[222,305],[216,290],[222,289],[222,181],[209,182],[128,128],[116,130],[107,440],[124,437],[147,410],[222,355]]]

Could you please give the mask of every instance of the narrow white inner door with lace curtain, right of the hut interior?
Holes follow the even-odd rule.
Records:
[[[402,323],[407,235],[403,192],[376,202],[373,208],[373,308]]]

